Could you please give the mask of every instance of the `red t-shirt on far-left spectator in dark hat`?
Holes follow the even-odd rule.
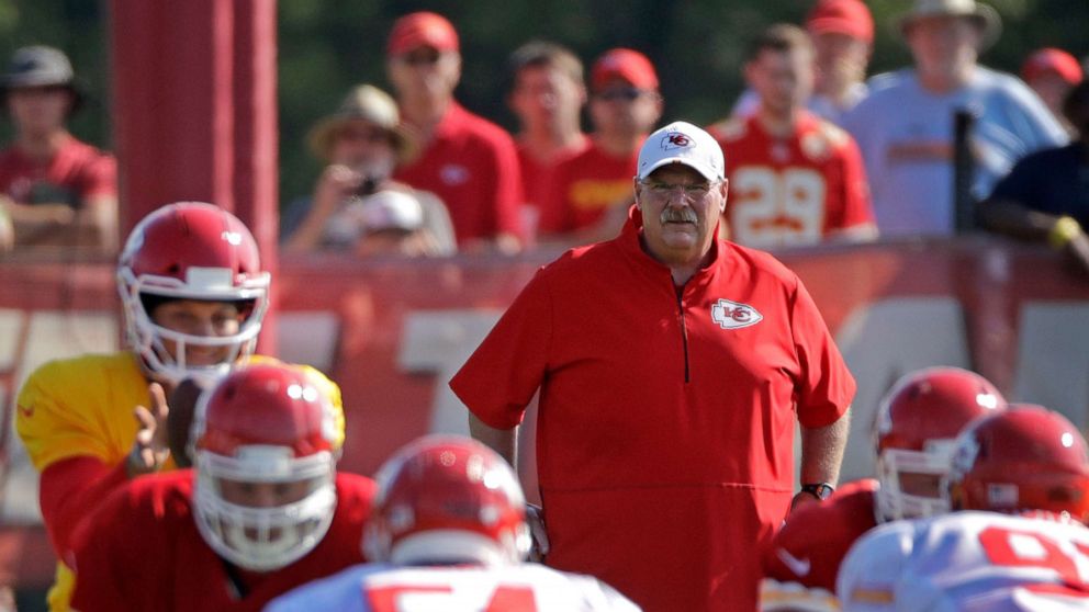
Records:
[[[117,163],[112,156],[68,137],[48,163],[36,163],[19,147],[0,151],[0,191],[20,204],[68,204],[116,195]]]

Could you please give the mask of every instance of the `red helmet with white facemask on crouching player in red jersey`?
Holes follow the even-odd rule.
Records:
[[[227,560],[278,569],[312,551],[333,522],[339,434],[323,388],[300,367],[254,364],[201,398],[197,524]]]

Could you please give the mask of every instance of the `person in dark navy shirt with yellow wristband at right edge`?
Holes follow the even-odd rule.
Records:
[[[1089,272],[1089,81],[1066,97],[1078,139],[1022,159],[978,207],[984,227],[1048,242]]]

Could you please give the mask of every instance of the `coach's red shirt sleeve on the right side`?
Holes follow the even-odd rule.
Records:
[[[798,421],[805,428],[819,428],[846,412],[854,399],[855,382],[813,298],[800,280],[795,277],[795,283],[790,330],[802,372],[795,392]]]

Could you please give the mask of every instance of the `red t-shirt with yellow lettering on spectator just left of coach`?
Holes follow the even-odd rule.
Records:
[[[626,157],[605,152],[596,143],[560,163],[538,223],[541,234],[562,234],[591,227],[606,211],[632,201],[632,177],[639,149]]]

